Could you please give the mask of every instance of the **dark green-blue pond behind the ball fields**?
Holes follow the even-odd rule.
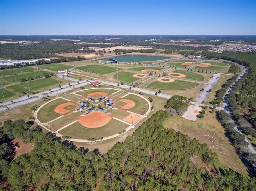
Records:
[[[120,55],[112,56],[108,58],[101,58],[100,60],[108,61],[108,59],[115,59],[118,62],[145,62],[145,61],[156,61],[170,59],[170,57],[165,56],[148,56],[148,55]]]

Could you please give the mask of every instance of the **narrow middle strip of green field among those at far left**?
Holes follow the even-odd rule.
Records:
[[[22,73],[22,74],[19,74],[19,75],[12,75],[12,76],[8,76],[8,77],[3,77],[2,79],[8,81],[9,84],[10,84],[11,82],[12,83],[19,82],[20,79],[22,79],[22,78],[25,78],[26,80],[28,80],[29,77],[33,77],[34,79],[36,78],[36,76],[40,76],[40,75],[41,75],[41,77],[44,77],[44,75],[43,75],[44,73],[50,75],[50,72],[46,72],[46,71],[40,71],[40,72],[39,71],[32,71],[32,72],[29,72],[29,73]]]

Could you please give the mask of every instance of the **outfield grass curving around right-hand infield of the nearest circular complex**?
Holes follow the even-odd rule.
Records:
[[[129,111],[138,113],[140,115],[145,114],[145,107],[146,107],[145,104],[148,104],[148,102],[146,102],[146,100],[144,100],[142,97],[133,95],[133,94],[129,94],[128,96],[125,96],[122,99],[130,99],[135,102],[135,106],[133,108],[128,109]],[[147,106],[147,109],[148,109],[148,106]]]

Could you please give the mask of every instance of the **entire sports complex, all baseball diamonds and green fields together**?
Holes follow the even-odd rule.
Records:
[[[172,91],[196,89],[207,83],[205,77],[211,76],[211,71],[227,68],[228,65],[221,62],[174,60],[170,57],[131,63],[101,60],[99,63],[91,60],[52,63],[1,71],[4,87],[0,98],[21,96],[24,92],[36,96],[39,91],[44,91],[44,96],[51,96],[52,91],[60,87],[72,86],[72,91],[52,97],[37,108],[34,112],[36,122],[57,136],[68,137],[74,142],[88,142],[91,138],[107,140],[127,132],[150,113],[152,105],[147,96],[138,94],[135,87],[153,94],[162,91],[173,95]],[[67,72],[57,74],[59,70]],[[54,76],[43,77],[43,74],[51,72]],[[78,83],[68,81],[67,77]],[[22,78],[30,79],[17,81]],[[88,81],[83,89],[78,88],[81,80]],[[103,83],[101,87],[89,84],[95,81],[108,81],[114,85],[110,87]],[[68,86],[68,83],[71,84]]]

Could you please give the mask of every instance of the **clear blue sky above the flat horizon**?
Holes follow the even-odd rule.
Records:
[[[256,1],[0,1],[1,35],[256,35]]]

